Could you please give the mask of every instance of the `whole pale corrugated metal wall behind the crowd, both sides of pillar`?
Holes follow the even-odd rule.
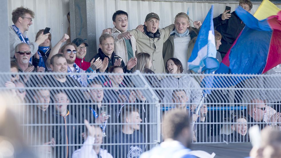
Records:
[[[77,0],[78,1],[78,0]],[[160,27],[170,25],[174,17],[179,12],[188,13],[194,21],[203,22],[204,17],[209,11],[211,5],[214,5],[214,17],[221,14],[225,6],[228,5],[232,11],[238,6],[228,3],[187,3],[187,2],[164,2],[164,1],[130,1],[130,0],[94,0],[93,16],[96,16],[97,42],[99,35],[104,28],[113,27],[112,15],[116,10],[124,10],[129,14],[128,29],[135,29],[137,25],[143,24],[146,15],[150,12],[157,13],[160,16]],[[11,0],[9,1],[9,19],[10,25],[11,12],[16,7],[24,5],[35,11],[35,19],[32,27],[28,31],[31,41],[39,29],[45,27],[51,28],[52,44],[54,45],[63,33],[67,33],[69,12],[69,0]],[[253,5],[251,13],[253,14],[259,5]],[[277,5],[281,8],[281,5]],[[98,48],[98,43],[97,43]]]

